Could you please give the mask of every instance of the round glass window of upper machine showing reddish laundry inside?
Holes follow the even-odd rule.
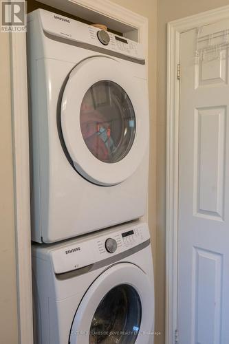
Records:
[[[80,129],[91,153],[102,162],[122,160],[135,138],[135,114],[124,89],[109,80],[86,92],[80,107]]]

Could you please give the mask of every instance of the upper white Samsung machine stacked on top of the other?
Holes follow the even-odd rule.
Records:
[[[32,240],[144,215],[149,106],[142,45],[36,10],[28,16]]]

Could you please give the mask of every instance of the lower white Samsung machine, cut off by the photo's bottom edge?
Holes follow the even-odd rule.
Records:
[[[153,344],[149,229],[135,222],[32,247],[36,344]]]

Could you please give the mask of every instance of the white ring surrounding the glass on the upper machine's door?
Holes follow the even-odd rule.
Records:
[[[83,97],[89,87],[100,80],[109,80],[122,87],[135,112],[133,145],[129,153],[116,163],[105,163],[96,158],[87,148],[80,129]],[[118,184],[130,177],[140,165],[149,141],[149,110],[144,84],[146,86],[145,80],[129,75],[118,61],[108,57],[88,58],[70,73],[61,105],[63,138],[74,166],[91,182],[100,185]]]

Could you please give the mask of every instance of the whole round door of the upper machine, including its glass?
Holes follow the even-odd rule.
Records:
[[[63,140],[90,182],[118,184],[134,173],[149,138],[146,80],[113,58],[87,58],[69,74],[61,103]]]

